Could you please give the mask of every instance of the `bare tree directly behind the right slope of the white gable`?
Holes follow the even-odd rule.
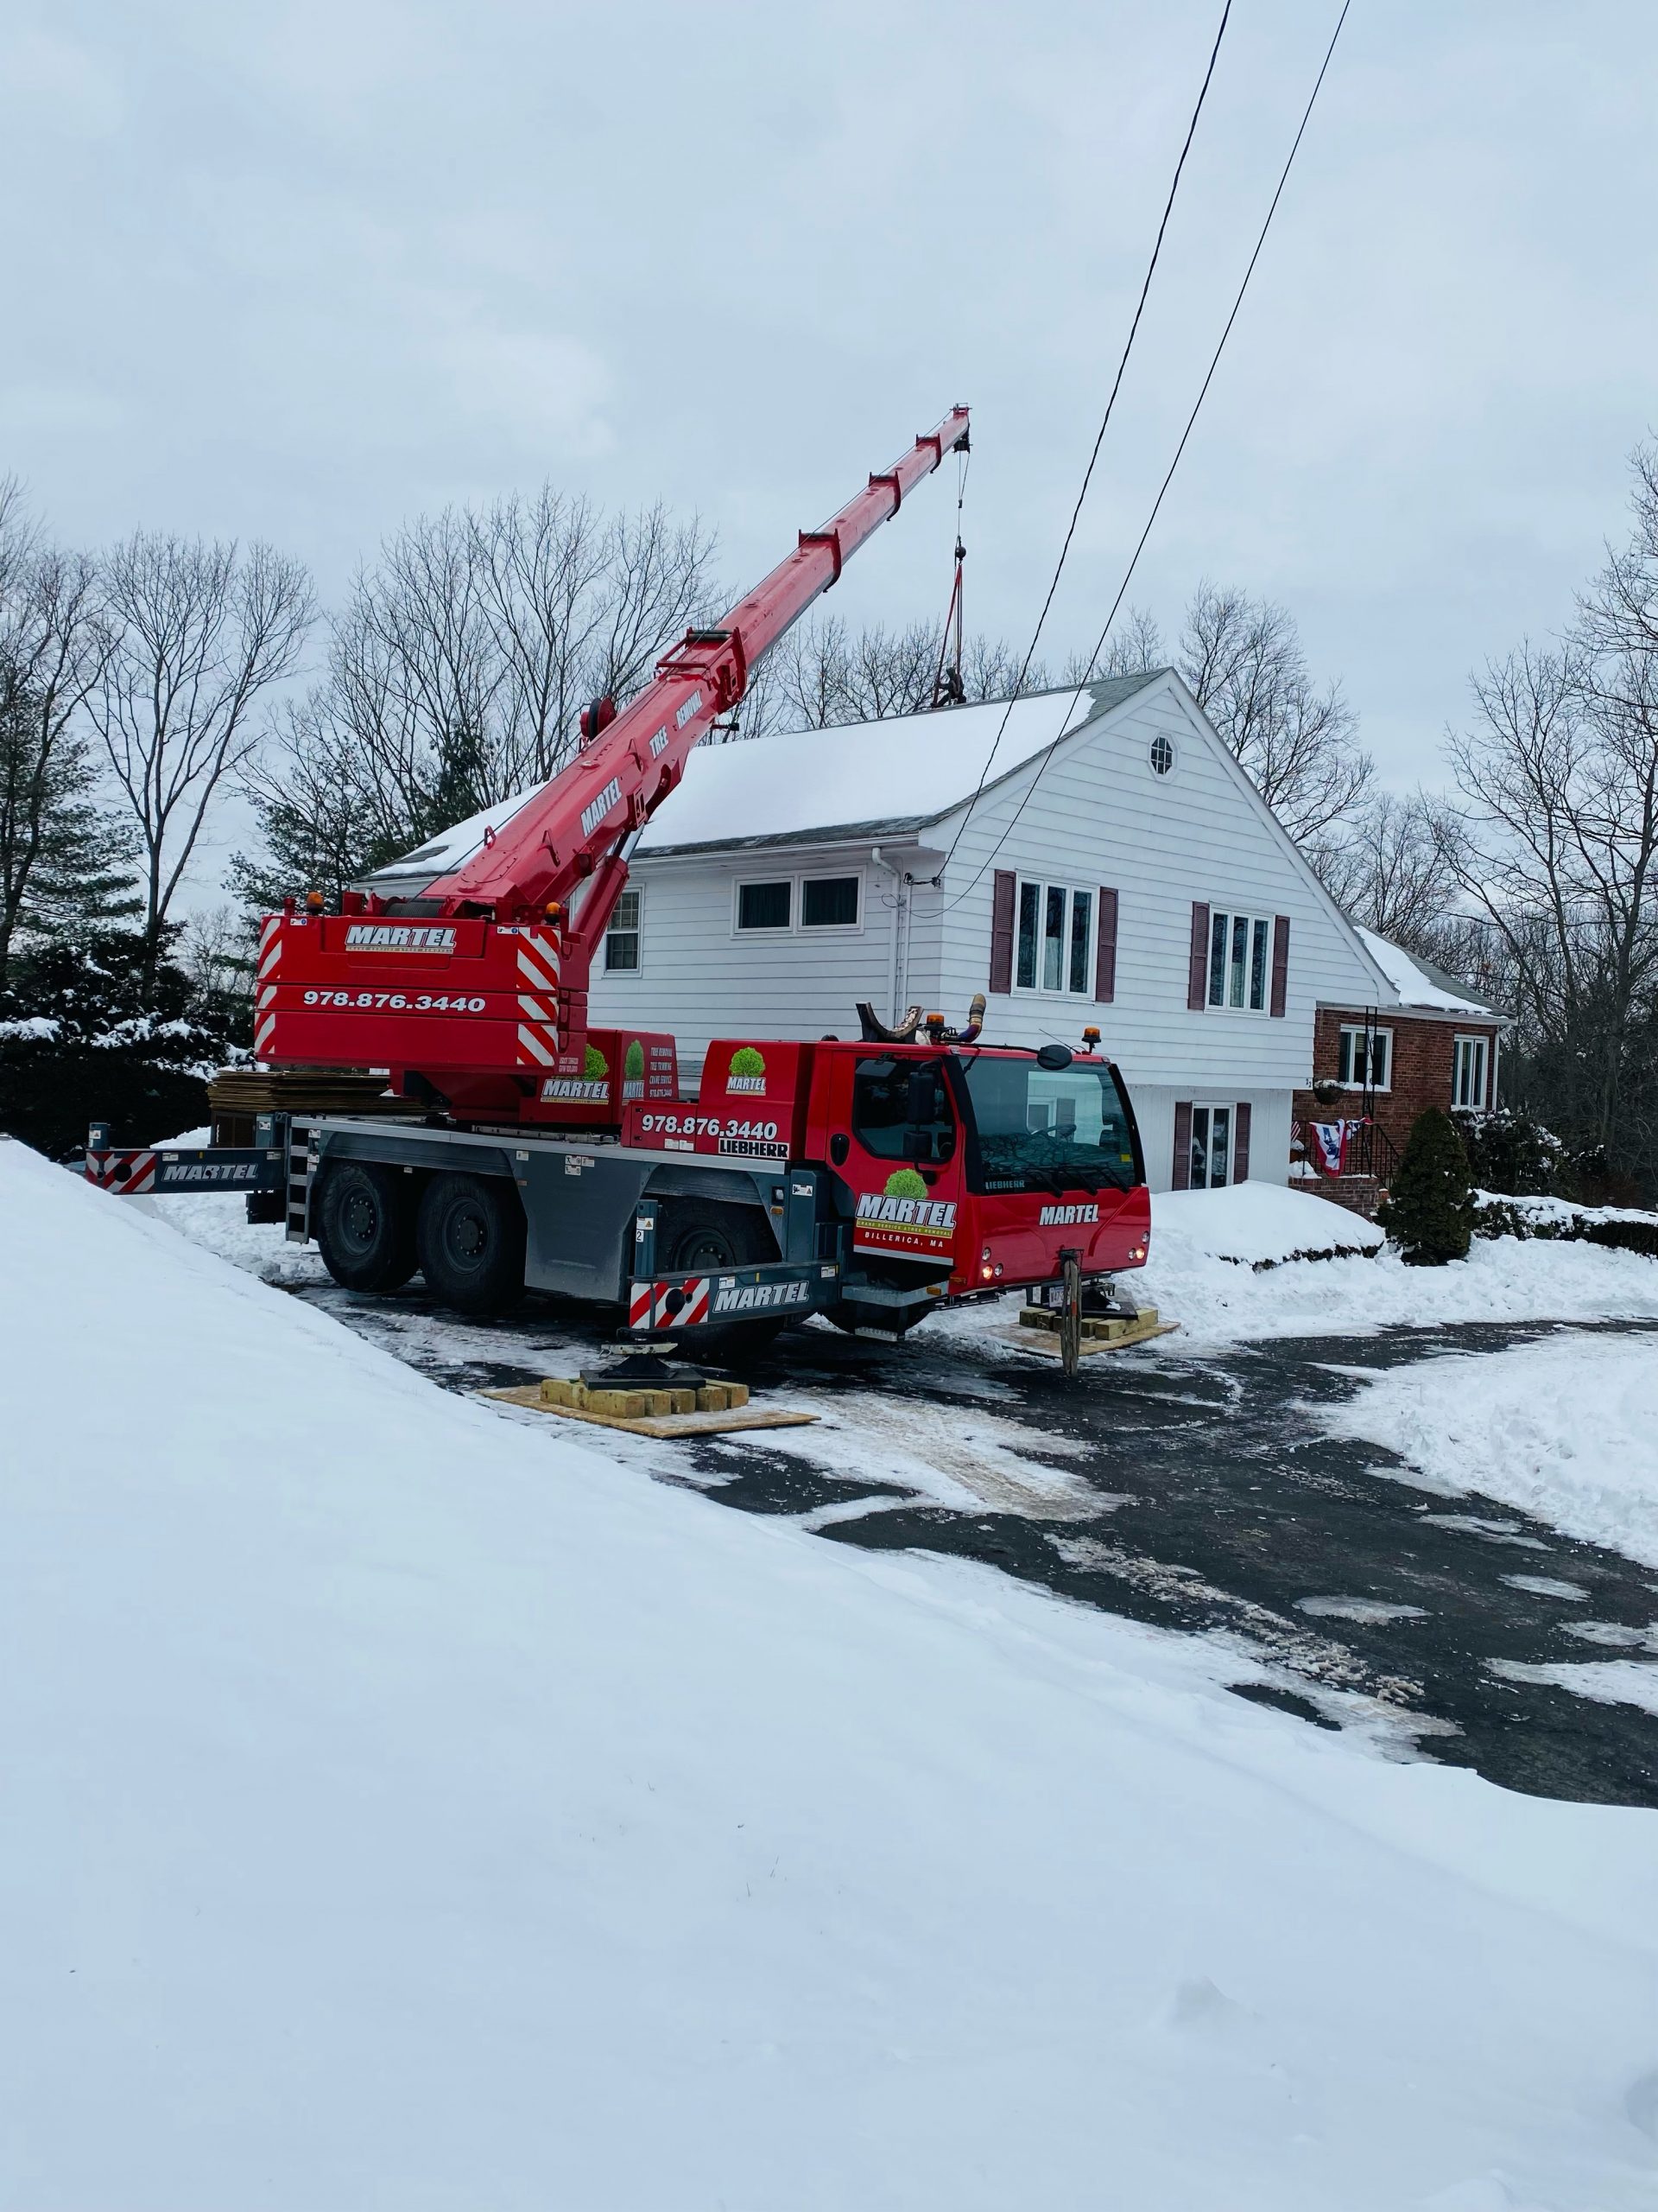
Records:
[[[1318,838],[1364,801],[1375,763],[1357,743],[1357,714],[1340,684],[1313,684],[1282,606],[1205,580],[1185,611],[1176,661],[1293,838]]]

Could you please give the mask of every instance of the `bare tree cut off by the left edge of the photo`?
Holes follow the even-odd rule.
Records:
[[[119,874],[73,726],[104,655],[93,562],[49,546],[0,482],[0,987],[31,918],[57,922]]]

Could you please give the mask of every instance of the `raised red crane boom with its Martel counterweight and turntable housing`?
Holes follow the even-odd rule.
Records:
[[[663,655],[621,712],[599,699],[581,750],[500,810],[418,898],[349,891],[340,914],[290,900],[263,922],[254,1055],[389,1068],[460,1121],[619,1126],[623,1097],[674,1099],[665,1035],[588,1031],[588,973],[628,880],[626,847],[749,675],[904,498],[966,447],[955,407],[707,630]],[[634,1068],[621,1062],[637,1046]]]

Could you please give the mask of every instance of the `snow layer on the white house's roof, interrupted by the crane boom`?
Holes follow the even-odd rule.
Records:
[[[1068,730],[1079,730],[1145,690],[1158,675],[1163,670],[1108,677],[1081,692],[1074,686],[1032,692],[1012,708],[995,699],[840,730],[791,730],[787,737],[699,745],[685,763],[685,781],[646,827],[637,849],[663,854],[917,830],[970,799],[986,763],[986,783],[999,783]],[[391,860],[367,883],[376,891],[398,894],[431,883],[471,858],[484,843],[484,830],[500,832],[533,796],[535,790],[520,792],[484,807],[420,852]]]

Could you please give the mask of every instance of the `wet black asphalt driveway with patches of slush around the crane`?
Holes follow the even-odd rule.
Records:
[[[312,1296],[451,1389],[533,1380],[562,1371],[550,1360],[568,1360],[577,1338],[584,1356],[604,1343],[577,1310],[462,1325],[418,1292]],[[1601,1329],[1654,1332],[1583,1332]],[[1220,1635],[1273,1674],[1231,1688],[1302,1721],[1340,1725],[1344,1699],[1357,1699],[1391,1714],[1419,1756],[1510,1790],[1658,1805],[1658,1712],[1528,1672],[1601,1644],[1658,1674],[1654,1568],[1475,1491],[1446,1498],[1386,1444],[1326,1436],[1318,1420],[1368,1371],[1552,1334],[1552,1323],[1461,1325],[1205,1358],[1147,1349],[1066,1383],[970,1338],[920,1332],[886,1349],[805,1329],[752,1380],[809,1396],[822,1429],[789,1431],[787,1451],[725,1438],[626,1455],[738,1511],[811,1517],[825,1542],[977,1559],[1077,1604]],[[982,1504],[920,1491],[915,1462],[937,1469],[946,1495],[982,1480],[986,1433],[1004,1462],[1028,1467],[1028,1500],[1017,1484],[984,1484]]]

